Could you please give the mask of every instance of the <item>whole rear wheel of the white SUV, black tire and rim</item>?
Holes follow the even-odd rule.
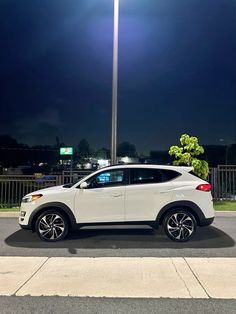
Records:
[[[166,235],[175,242],[189,241],[195,234],[197,222],[188,210],[176,208],[167,213],[163,222]]]

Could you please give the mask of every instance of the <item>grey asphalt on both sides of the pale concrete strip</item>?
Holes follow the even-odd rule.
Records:
[[[236,213],[220,214],[187,243],[169,240],[162,228],[81,229],[62,242],[42,242],[16,218],[0,218],[0,256],[236,257]],[[0,313],[235,313],[236,300],[4,297]]]

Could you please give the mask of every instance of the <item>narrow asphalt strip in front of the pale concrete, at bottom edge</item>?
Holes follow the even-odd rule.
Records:
[[[0,312],[7,313],[235,313],[235,300],[114,299],[74,297],[0,297]]]

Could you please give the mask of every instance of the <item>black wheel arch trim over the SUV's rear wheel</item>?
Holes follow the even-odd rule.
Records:
[[[172,202],[172,203],[164,206],[160,210],[160,212],[158,213],[157,218],[156,218],[156,222],[159,225],[162,225],[164,217],[166,216],[166,214],[168,212],[170,212],[171,210],[177,209],[177,208],[188,210],[195,217],[197,225],[198,226],[203,225],[203,222],[205,220],[205,216],[204,216],[202,210],[200,209],[200,207],[191,201],[176,201],[176,202]]]

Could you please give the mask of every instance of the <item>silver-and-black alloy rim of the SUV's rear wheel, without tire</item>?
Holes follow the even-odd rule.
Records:
[[[176,240],[186,240],[194,231],[194,221],[186,213],[175,213],[169,217],[167,229]]]

